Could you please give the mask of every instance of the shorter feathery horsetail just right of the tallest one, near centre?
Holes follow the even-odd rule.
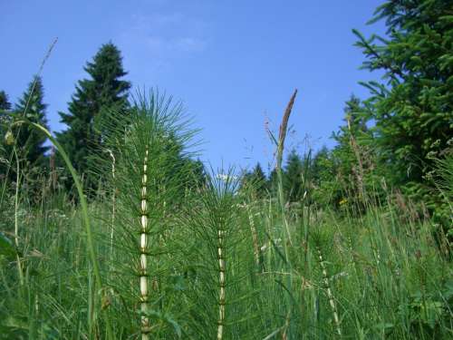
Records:
[[[193,207],[182,215],[181,225],[195,238],[194,247],[187,249],[187,261],[197,268],[188,283],[193,316],[189,328],[197,339],[247,338],[238,318],[244,318],[252,305],[246,301],[244,279],[255,267],[255,255],[248,247],[252,240],[247,217],[232,175],[228,171],[225,176],[210,176]]]

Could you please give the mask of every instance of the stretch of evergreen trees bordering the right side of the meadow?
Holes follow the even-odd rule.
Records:
[[[366,199],[379,201],[391,191],[420,202],[420,209],[448,225],[453,198],[439,193],[436,177],[439,160],[451,164],[453,146],[451,2],[388,1],[370,24],[379,20],[385,21],[386,36],[352,32],[364,55],[361,67],[382,73],[381,81],[362,82],[368,98],[352,95],[345,102],[331,150],[288,155],[286,199],[301,201],[311,189],[318,205],[360,208]],[[243,188],[247,182],[257,183],[258,197],[275,192],[275,171],[266,177],[257,164],[246,172]]]

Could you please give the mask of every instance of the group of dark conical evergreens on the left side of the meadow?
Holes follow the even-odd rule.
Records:
[[[88,74],[88,78],[76,84],[67,111],[59,112],[66,129],[56,133],[56,140],[71,155],[72,165],[82,174],[85,188],[92,191],[99,188],[100,180],[99,164],[92,157],[92,153],[100,150],[107,138],[105,120],[109,119],[110,112],[121,112],[126,121],[130,112],[131,84],[124,80],[127,72],[122,65],[121,53],[112,43],[101,45],[100,50],[92,61],[86,63],[83,70]],[[14,119],[23,117],[48,129],[46,109],[43,80],[40,76],[33,77],[14,106],[9,102],[7,94],[4,91],[0,92],[1,129],[2,135],[5,136],[2,143],[4,161],[0,165],[0,176],[16,180],[16,170],[11,166],[14,163],[12,157],[15,150],[20,163],[19,169],[26,173],[28,183],[52,172],[53,175],[58,174],[58,183],[70,190],[72,181],[64,169],[63,160],[45,144],[46,138],[43,134],[26,125],[11,128]],[[109,124],[110,130],[115,128],[111,126],[111,121]],[[199,160],[183,161],[191,163],[193,172],[198,177],[203,175]]]

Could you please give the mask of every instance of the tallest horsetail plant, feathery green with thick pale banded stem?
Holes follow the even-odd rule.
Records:
[[[107,202],[116,211],[111,268],[117,275],[111,276],[111,287],[121,304],[114,307],[120,308],[118,316],[139,314],[130,325],[119,324],[142,340],[163,332],[161,321],[172,304],[163,291],[175,270],[168,259],[174,253],[171,229],[189,179],[188,148],[194,144],[188,143],[196,133],[188,123],[180,103],[153,91],[149,97],[140,93],[128,112],[111,112],[103,122],[104,148],[115,159],[115,176],[106,183],[116,192],[115,201]],[[105,173],[111,165],[102,154],[96,160]]]

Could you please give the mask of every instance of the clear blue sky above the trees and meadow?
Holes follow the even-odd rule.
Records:
[[[101,44],[123,55],[133,86],[158,86],[185,102],[202,128],[202,160],[264,168],[273,160],[265,121],[276,132],[294,88],[287,150],[333,146],[342,108],[357,82],[378,77],[360,71],[352,28],[366,25],[378,0],[0,0],[0,90],[15,102],[58,37],[43,69],[53,131],[66,111],[83,66]]]

